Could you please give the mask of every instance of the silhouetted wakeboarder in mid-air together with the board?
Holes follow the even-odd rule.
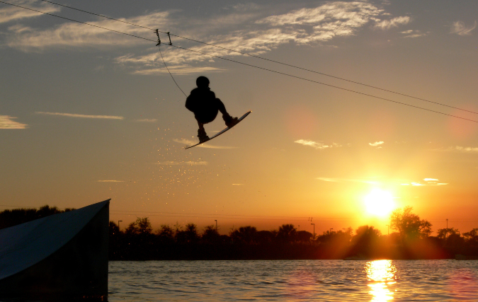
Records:
[[[186,108],[194,113],[194,117],[198,121],[199,144],[203,144],[205,141],[209,141],[210,139],[213,139],[226,132],[234,127],[238,122],[241,122],[241,120],[249,115],[249,113],[251,113],[250,111],[246,112],[246,114],[241,116],[239,119],[237,117],[232,117],[229,115],[229,113],[227,113],[224,103],[222,103],[219,98],[216,98],[215,93],[210,90],[209,79],[207,79],[205,76],[200,76],[198,79],[196,79],[196,85],[198,87],[194,88],[188,98],[186,98]],[[222,120],[224,120],[227,128],[210,138],[206,134],[204,124],[215,120],[218,112],[222,113]],[[195,144],[193,146],[197,145],[198,144]],[[193,146],[189,146],[188,148]]]

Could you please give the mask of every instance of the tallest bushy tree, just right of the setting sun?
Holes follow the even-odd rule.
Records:
[[[390,228],[396,230],[402,240],[425,238],[431,233],[431,223],[421,220],[411,212],[412,209],[413,207],[407,206],[394,210],[390,215]]]

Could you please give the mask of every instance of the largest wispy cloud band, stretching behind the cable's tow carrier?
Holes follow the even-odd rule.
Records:
[[[178,11],[145,13],[142,16],[121,20],[149,28],[176,28],[176,31],[181,32],[183,36],[194,37],[196,40],[250,54],[263,54],[290,42],[297,45],[310,45],[328,42],[334,37],[352,36],[370,22],[375,22],[376,27],[385,30],[410,21],[409,17],[389,19],[389,13],[368,1],[331,1],[315,8],[288,11],[285,11],[284,7],[271,8],[271,6],[256,4],[231,6],[224,10],[228,12],[226,15],[215,16],[214,22],[205,22],[202,18],[181,16]],[[271,16],[271,9],[274,9],[275,12],[281,11],[281,13]],[[387,20],[382,20],[383,18]],[[114,28],[132,35],[144,36],[142,28],[124,23],[101,18],[89,23],[104,28]],[[154,39],[154,36],[152,38]],[[164,39],[166,36],[163,35],[161,40]],[[73,49],[79,47],[123,47],[127,49],[127,47],[145,43],[154,45],[153,42],[70,22],[45,30],[36,30],[26,25],[12,26],[6,33],[6,43],[10,47],[23,51],[46,50],[49,47],[71,47]],[[178,37],[173,37],[173,43],[181,43],[183,47],[215,56],[241,55],[209,45],[197,45],[197,43],[190,43]],[[161,50],[171,72],[176,74],[222,71],[210,64],[205,64],[210,61],[211,57],[203,54],[166,46]],[[119,56],[115,58],[115,62],[130,69],[132,74],[151,75],[167,72],[161,66],[162,59],[157,47],[149,47],[143,53],[135,51],[134,54]]]

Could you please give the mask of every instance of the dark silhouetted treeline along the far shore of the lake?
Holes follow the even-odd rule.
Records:
[[[65,210],[69,211],[69,209]],[[56,207],[0,212],[7,227],[51,214]],[[147,217],[138,218],[124,231],[110,221],[110,260],[278,260],[278,259],[478,259],[478,228],[461,233],[439,228],[412,213],[411,207],[390,216],[394,232],[383,235],[374,226],[325,231],[315,236],[283,224],[271,231],[241,226],[220,235],[213,225],[162,224],[156,231]]]

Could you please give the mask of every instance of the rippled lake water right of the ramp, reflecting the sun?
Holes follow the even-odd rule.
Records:
[[[478,301],[478,261],[110,262],[108,301]]]

